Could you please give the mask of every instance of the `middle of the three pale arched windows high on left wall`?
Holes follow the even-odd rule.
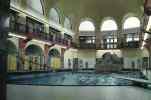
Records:
[[[49,20],[55,22],[56,24],[60,23],[60,18],[57,10],[55,8],[51,8],[49,12]]]

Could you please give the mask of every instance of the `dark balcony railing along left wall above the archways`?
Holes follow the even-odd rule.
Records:
[[[26,36],[29,30],[30,30],[30,27],[28,27],[25,24],[20,24],[20,23],[10,24],[10,31],[18,35]],[[31,34],[33,34],[34,39],[43,40],[43,41],[47,41],[47,42],[51,42],[55,44],[64,45],[64,46],[71,45],[70,40],[62,38],[61,36],[55,36],[55,34],[48,34],[45,32],[38,32],[38,33],[33,32]]]

